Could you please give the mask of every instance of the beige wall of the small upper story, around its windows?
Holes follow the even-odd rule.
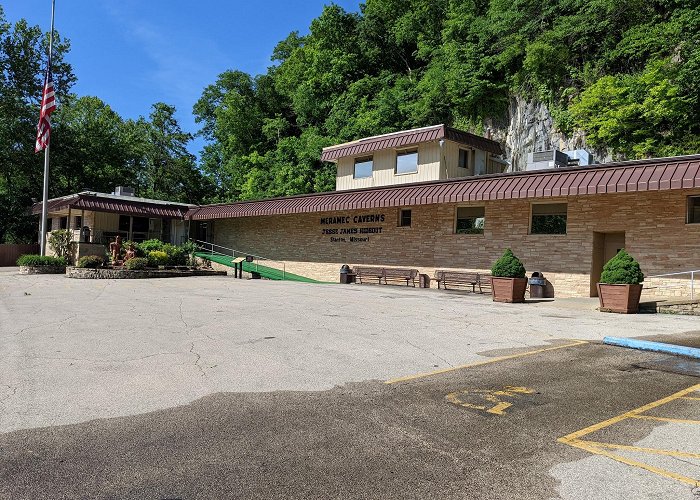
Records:
[[[397,152],[418,149],[418,172],[411,174],[396,173]],[[467,168],[459,167],[460,149],[467,152]],[[436,181],[468,177],[502,171],[498,163],[494,163],[489,153],[464,146],[453,141],[445,141],[442,148],[443,159],[440,161],[440,143],[426,142],[418,146],[400,149],[383,149],[371,155],[346,156],[338,159],[338,170],[335,188],[337,191],[361,189],[378,186],[393,186],[411,182]],[[372,157],[372,177],[355,179],[355,160]]]

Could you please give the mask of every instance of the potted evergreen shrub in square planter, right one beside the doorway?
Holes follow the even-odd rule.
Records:
[[[598,283],[600,310],[634,314],[639,311],[644,274],[634,257],[623,248],[603,266]]]

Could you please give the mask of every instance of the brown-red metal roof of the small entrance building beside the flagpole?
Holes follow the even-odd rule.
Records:
[[[130,198],[103,193],[78,193],[63,198],[49,200],[48,211],[56,212],[66,208],[113,212],[125,215],[140,215],[163,219],[182,219],[192,205],[145,198]],[[41,203],[32,206],[33,214],[41,214]]]

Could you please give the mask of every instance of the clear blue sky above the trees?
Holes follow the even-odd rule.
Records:
[[[277,42],[306,33],[330,0],[56,0],[56,29],[71,40],[73,91],[95,95],[125,118],[174,105],[196,132],[192,105],[221,72],[264,73]],[[360,0],[335,0],[349,11]],[[0,0],[7,19],[48,31],[50,0]],[[59,103],[60,105],[60,103]],[[201,149],[196,141],[192,152]]]

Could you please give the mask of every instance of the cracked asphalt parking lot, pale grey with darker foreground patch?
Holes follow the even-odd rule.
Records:
[[[699,498],[697,364],[599,343],[699,323],[0,271],[0,497]]]

